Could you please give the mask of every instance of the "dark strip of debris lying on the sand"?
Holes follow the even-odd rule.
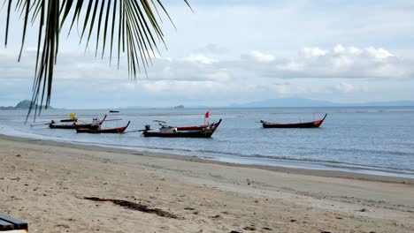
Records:
[[[128,209],[137,210],[137,211],[141,211],[141,212],[149,213],[149,214],[157,214],[160,217],[181,219],[177,214],[173,214],[173,213],[167,212],[159,208],[151,208],[141,203],[134,203],[132,201],[127,201],[123,199],[100,199],[97,197],[83,197],[83,199],[88,199],[88,200],[93,200],[93,201],[103,201],[103,202],[108,201],[120,207],[126,207]]]

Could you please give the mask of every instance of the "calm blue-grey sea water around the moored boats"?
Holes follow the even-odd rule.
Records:
[[[84,121],[93,117],[122,118],[103,127],[121,126],[126,131],[157,128],[154,120],[170,125],[203,124],[207,109],[108,109],[42,112],[24,124],[26,111],[0,111],[0,133],[12,136],[51,139],[76,144],[121,147],[142,152],[184,154],[220,162],[282,166],[290,168],[344,170],[357,173],[414,178],[414,108],[264,108],[211,109],[211,121],[223,118],[211,139],[144,138],[141,132],[125,134],[83,134],[74,130],[31,127],[50,120],[67,118],[75,112]],[[257,121],[294,123],[312,121],[328,114],[317,129],[264,129]]]

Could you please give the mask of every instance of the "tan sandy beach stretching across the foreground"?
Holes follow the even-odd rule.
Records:
[[[414,181],[0,137],[29,232],[414,232]]]

